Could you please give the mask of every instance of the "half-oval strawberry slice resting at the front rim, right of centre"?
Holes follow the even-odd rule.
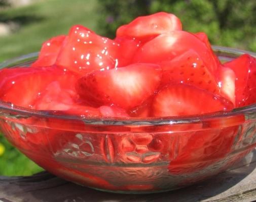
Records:
[[[207,103],[207,105],[206,105]],[[153,116],[186,116],[233,109],[223,97],[187,84],[170,84],[153,101]]]

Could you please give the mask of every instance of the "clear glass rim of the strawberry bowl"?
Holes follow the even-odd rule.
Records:
[[[249,54],[256,58],[256,53],[243,51],[237,48],[230,48],[224,46],[212,45],[213,51],[218,54],[220,58],[239,57],[242,54]],[[15,67],[15,64],[25,62],[28,59],[36,59],[38,52],[23,55],[11,60],[7,60],[0,63],[0,69],[4,67]],[[12,119],[40,117],[40,118],[54,118],[62,120],[77,120],[83,121],[88,125],[136,125],[136,126],[152,126],[152,125],[170,125],[170,124],[194,124],[209,119],[222,119],[227,117],[236,117],[238,115],[244,115],[245,119],[256,119],[256,104],[249,106],[235,108],[230,111],[219,111],[212,112],[202,115],[192,116],[170,116],[170,117],[149,117],[149,118],[105,118],[105,117],[86,117],[77,115],[59,115],[58,112],[62,111],[43,111],[43,110],[32,110],[15,106],[11,103],[0,100],[0,117],[7,117]],[[254,116],[253,116],[254,115]]]

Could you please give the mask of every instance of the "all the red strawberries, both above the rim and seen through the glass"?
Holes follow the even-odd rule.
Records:
[[[222,63],[205,33],[182,30],[180,20],[164,12],[122,25],[115,39],[75,25],[67,35],[45,41],[29,67],[0,70],[0,100],[21,109],[79,118],[80,122],[37,117],[18,124],[0,120],[7,138],[45,169],[92,187],[150,190],[161,188],[157,180],[173,180],[173,175],[201,179],[200,173],[192,174],[212,166],[204,172],[212,175],[241,159],[255,146],[243,142],[251,123],[243,125],[243,115],[160,126],[85,126],[81,120],[175,120],[254,104],[256,59],[244,54]],[[253,136],[251,132],[246,138]],[[119,167],[113,171],[111,166],[95,166],[98,162]],[[164,177],[151,180],[160,166],[144,165],[166,162]],[[124,164],[133,167],[122,168]],[[122,177],[102,177],[100,169]],[[135,184],[132,176],[123,178],[129,172]]]

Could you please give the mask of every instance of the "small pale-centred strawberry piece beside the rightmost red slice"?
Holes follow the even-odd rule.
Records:
[[[229,99],[234,106],[236,105],[235,82],[236,75],[234,71],[228,67],[220,66],[217,71],[218,85],[221,88],[221,94]]]

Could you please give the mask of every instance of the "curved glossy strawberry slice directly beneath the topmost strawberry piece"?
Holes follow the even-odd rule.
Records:
[[[138,49],[133,62],[159,64],[169,61],[189,49],[193,49],[201,57],[211,73],[217,70],[218,63],[215,61],[211,49],[194,34],[185,31],[160,34]]]

